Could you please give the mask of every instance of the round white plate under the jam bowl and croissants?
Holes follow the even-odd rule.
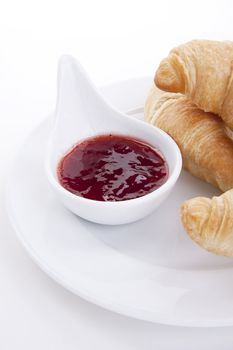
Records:
[[[151,82],[103,89],[119,109],[142,117]],[[57,282],[109,310],[152,322],[233,325],[233,260],[196,246],[179,222],[179,205],[218,191],[185,171],[150,217],[124,226],[80,219],[55,198],[44,173],[51,118],[28,137],[15,159],[8,212],[31,257]]]

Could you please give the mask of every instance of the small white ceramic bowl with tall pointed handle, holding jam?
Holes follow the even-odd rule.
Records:
[[[77,61],[68,56],[63,57],[59,65],[55,114],[46,173],[55,194],[69,210],[99,224],[126,224],[150,214],[167,198],[182,167],[176,143],[162,130],[113,109],[104,101]],[[59,160],[85,138],[109,133],[137,138],[158,149],[168,164],[167,181],[145,196],[122,202],[95,201],[63,188],[57,176]]]

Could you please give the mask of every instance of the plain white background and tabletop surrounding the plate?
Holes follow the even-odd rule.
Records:
[[[88,304],[29,259],[8,222],[9,163],[53,110],[60,55],[76,56],[97,85],[150,75],[175,45],[231,40],[231,1],[0,1],[0,349],[221,349],[233,328],[150,324]],[[16,174],[17,176],[17,174]]]

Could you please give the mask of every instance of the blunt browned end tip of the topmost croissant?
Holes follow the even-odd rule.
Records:
[[[159,65],[154,77],[155,85],[168,92],[184,92],[184,82],[169,58]]]

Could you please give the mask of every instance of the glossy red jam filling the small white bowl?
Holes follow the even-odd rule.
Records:
[[[168,178],[161,154],[148,144],[119,135],[84,140],[60,161],[58,178],[68,191],[97,201],[138,198]]]

